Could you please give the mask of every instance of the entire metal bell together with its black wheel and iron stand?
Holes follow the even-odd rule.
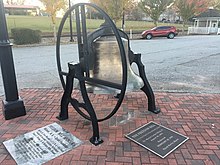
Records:
[[[87,34],[86,7],[98,11],[104,18],[104,23],[94,32]],[[60,39],[63,26],[68,16],[74,12],[79,52],[78,63],[68,63],[68,72],[61,67]],[[90,142],[99,145],[103,140],[99,136],[98,122],[111,118],[119,109],[125,92],[141,89],[148,98],[148,111],[155,114],[155,97],[147,80],[141,54],[135,54],[130,49],[127,34],[116,28],[110,17],[98,6],[91,3],[79,3],[72,6],[64,15],[57,35],[56,57],[57,67],[64,93],[61,99],[59,120],[68,119],[69,103],[85,119],[92,122],[93,136]],[[139,75],[135,74],[131,64],[137,65]],[[114,68],[114,70],[112,69]],[[66,81],[64,80],[66,77]],[[83,102],[71,96],[74,79],[78,79]],[[104,118],[97,118],[88,93],[117,93],[117,103],[112,112]],[[84,113],[83,108],[87,113]]]

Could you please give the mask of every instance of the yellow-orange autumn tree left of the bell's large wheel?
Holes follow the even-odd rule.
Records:
[[[46,12],[50,15],[53,24],[54,41],[56,40],[56,13],[66,8],[65,0],[40,0],[46,8]]]

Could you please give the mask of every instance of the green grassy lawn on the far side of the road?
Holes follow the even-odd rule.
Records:
[[[8,31],[11,33],[12,28],[30,28],[34,30],[40,30],[44,34],[45,33],[52,33],[53,27],[51,23],[50,17],[37,17],[37,16],[7,16],[7,25]],[[57,18],[57,29],[59,27],[61,19]],[[96,29],[103,23],[103,20],[87,20],[87,28],[88,29]],[[73,31],[75,31],[75,21],[73,21]],[[169,24],[169,23],[159,23],[158,25],[174,25],[177,29],[181,29],[181,24]],[[121,22],[117,23],[117,27],[121,27]],[[133,31],[142,31],[145,29],[150,29],[154,27],[152,22],[146,21],[126,21],[125,22],[125,29],[129,31],[132,29]],[[69,32],[69,20],[66,21],[65,26],[63,28],[63,32]]]

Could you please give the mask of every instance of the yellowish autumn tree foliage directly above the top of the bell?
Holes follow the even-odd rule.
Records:
[[[106,11],[115,23],[135,6],[135,0],[90,0],[90,2]]]

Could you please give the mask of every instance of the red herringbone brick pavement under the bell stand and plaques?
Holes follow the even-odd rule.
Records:
[[[2,142],[57,122],[80,138],[84,143],[78,148],[55,158],[47,165],[147,165],[147,164],[220,164],[220,94],[187,94],[157,92],[158,115],[146,111],[144,93],[127,94],[119,112],[110,120],[99,124],[104,143],[92,146],[91,125],[69,107],[69,119],[58,121],[61,89],[23,89],[27,115],[5,121],[0,111],[0,164],[15,164]],[[79,93],[74,97],[80,99]],[[98,116],[108,113],[115,103],[110,95],[91,95]],[[124,134],[150,121],[178,131],[190,139],[165,159],[154,155],[124,137]]]

